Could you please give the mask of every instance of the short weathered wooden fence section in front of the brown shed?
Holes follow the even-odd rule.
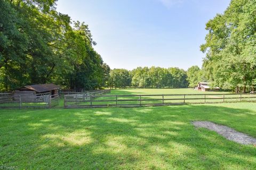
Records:
[[[2,108],[52,108],[59,106],[59,95],[50,93],[36,95],[0,94],[0,109]]]

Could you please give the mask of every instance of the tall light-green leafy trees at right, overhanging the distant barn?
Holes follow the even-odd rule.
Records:
[[[206,23],[203,68],[215,86],[245,92],[256,80],[256,1],[233,0]]]

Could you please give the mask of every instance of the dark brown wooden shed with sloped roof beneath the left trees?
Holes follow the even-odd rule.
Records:
[[[50,84],[35,84],[24,86],[14,92],[14,100],[19,96],[29,96],[27,100],[35,100],[41,98],[40,96],[57,95],[59,93],[60,86],[50,83]],[[33,96],[35,97],[33,99]]]

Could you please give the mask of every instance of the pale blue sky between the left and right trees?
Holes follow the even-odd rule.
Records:
[[[111,69],[201,67],[205,23],[230,0],[59,0],[57,10],[89,25]]]

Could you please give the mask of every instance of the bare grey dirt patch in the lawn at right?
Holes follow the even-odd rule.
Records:
[[[244,145],[253,144],[256,145],[256,139],[249,137],[241,132],[237,132],[234,129],[228,128],[227,126],[218,125],[212,122],[207,121],[195,121],[192,122],[197,128],[207,128],[209,130],[215,131],[222,135],[223,137],[227,138],[228,140],[235,141],[237,143],[241,143]]]

